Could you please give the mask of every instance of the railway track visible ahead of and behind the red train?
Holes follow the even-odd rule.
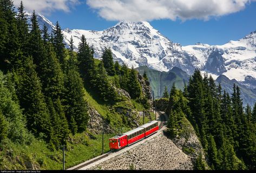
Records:
[[[163,122],[166,121],[166,116],[164,113],[161,113],[160,111],[156,110],[156,112],[159,114],[159,117],[160,117],[160,124],[159,124],[159,129],[161,129],[163,127]],[[73,167],[73,168],[69,168],[68,170],[78,170],[78,169],[81,169],[83,167],[86,167],[87,165],[89,164],[92,164],[94,162],[97,162],[97,161],[100,161],[102,160],[102,158],[105,158],[107,156],[109,156],[110,154],[114,153],[115,150],[110,150],[108,153],[105,153],[103,155],[100,155],[98,157],[95,157],[94,159],[88,161],[88,162],[85,162],[85,163],[82,163],[82,164],[78,164],[77,166]]]

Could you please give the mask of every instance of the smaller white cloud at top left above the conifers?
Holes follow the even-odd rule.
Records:
[[[69,12],[70,8],[79,4],[79,0],[22,0],[25,10],[49,14],[55,10]],[[21,0],[14,0],[14,5],[18,7]]]

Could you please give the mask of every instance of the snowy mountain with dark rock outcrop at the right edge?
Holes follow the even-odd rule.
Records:
[[[247,76],[256,78],[256,31],[224,45],[196,44],[182,49],[198,58],[206,72],[237,81],[245,81]]]

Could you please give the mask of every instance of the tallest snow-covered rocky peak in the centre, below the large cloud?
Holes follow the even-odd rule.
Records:
[[[82,34],[94,46],[95,58],[100,58],[104,47],[110,47],[114,60],[129,67],[147,65],[160,71],[169,71],[174,66],[191,73],[200,65],[198,59],[182,51],[180,44],[162,36],[148,22],[119,22],[104,31],[69,30],[63,31],[65,41],[71,36],[77,47]]]

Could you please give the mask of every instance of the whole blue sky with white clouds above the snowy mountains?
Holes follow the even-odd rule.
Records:
[[[256,2],[253,2],[255,0],[235,0],[234,4],[233,0],[222,0],[214,7],[209,5],[213,0],[207,0],[208,4],[198,0],[192,1],[191,4],[188,4],[191,1],[174,0],[175,9],[172,9],[173,4],[167,0],[160,0],[159,4],[150,0],[150,3],[146,3],[147,0],[63,0],[63,4],[52,0],[52,4],[49,4],[48,0],[45,4],[34,6],[32,1],[29,1],[31,0],[23,0],[25,7],[31,5],[30,9],[43,13],[53,23],[58,20],[62,29],[68,27],[99,31],[114,26],[122,19],[147,20],[164,36],[183,46],[198,42],[221,45],[229,40],[238,40],[256,30]],[[17,1],[14,2],[17,4]],[[168,9],[168,5],[172,6]],[[38,6],[42,8],[37,9]],[[175,11],[176,9],[179,10]]]

